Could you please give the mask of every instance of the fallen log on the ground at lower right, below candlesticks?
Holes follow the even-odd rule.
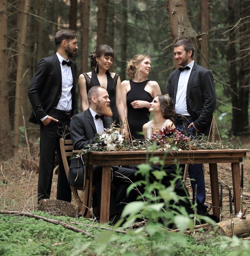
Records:
[[[250,215],[246,215],[245,219],[240,218],[232,218],[229,220],[223,220],[215,224],[218,226],[216,230],[216,234],[223,235],[223,236],[232,236],[232,225],[231,222],[233,221],[234,226],[234,235],[235,236],[248,236],[250,234]]]

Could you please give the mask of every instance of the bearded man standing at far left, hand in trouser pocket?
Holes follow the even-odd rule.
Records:
[[[69,133],[67,127],[77,113],[76,64],[69,60],[78,49],[76,32],[71,29],[58,31],[55,45],[56,54],[39,61],[28,93],[33,108],[29,121],[40,124],[38,202],[50,198],[56,152],[59,162],[57,199],[71,202],[71,189],[62,163],[59,139]]]

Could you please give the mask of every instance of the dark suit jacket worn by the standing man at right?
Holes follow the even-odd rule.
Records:
[[[180,71],[172,72],[168,79],[166,93],[176,101]],[[187,85],[187,110],[197,129],[208,135],[212,113],[216,106],[215,85],[212,72],[194,63]]]

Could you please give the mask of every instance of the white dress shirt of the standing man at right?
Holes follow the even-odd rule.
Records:
[[[192,67],[194,65],[195,61],[192,61],[187,65],[187,67],[190,67],[190,70],[184,70],[181,72],[179,76],[178,81],[178,88],[176,93],[176,101],[175,101],[175,111],[178,115],[184,115],[189,116],[187,110],[187,85],[188,85],[188,79],[192,70]]]

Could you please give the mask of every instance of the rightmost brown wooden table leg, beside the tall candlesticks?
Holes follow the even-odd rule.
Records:
[[[240,210],[241,177],[239,163],[231,163],[232,166],[232,189],[234,192],[235,214]]]

